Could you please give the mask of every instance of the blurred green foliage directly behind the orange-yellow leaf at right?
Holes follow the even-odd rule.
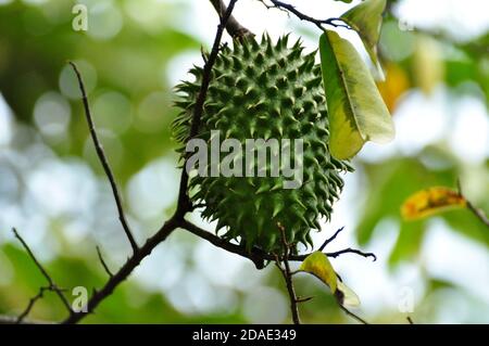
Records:
[[[400,234],[390,255],[392,264],[415,256],[427,229],[427,219],[402,221],[400,206],[417,190],[432,185],[454,185],[460,176],[456,168],[428,169],[418,159],[402,158],[390,161],[389,165],[366,165],[368,176],[368,205],[358,226],[360,244],[371,240],[374,229],[384,218],[396,220]],[[380,171],[381,170],[381,171]],[[391,191],[396,191],[392,193]],[[468,210],[452,210],[439,216],[456,231],[489,245],[487,227],[475,219]]]

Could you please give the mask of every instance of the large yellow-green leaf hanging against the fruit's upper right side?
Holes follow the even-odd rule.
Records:
[[[366,141],[386,143],[394,136],[389,111],[353,46],[335,31],[319,39],[329,113],[329,149],[338,159],[353,157]]]

